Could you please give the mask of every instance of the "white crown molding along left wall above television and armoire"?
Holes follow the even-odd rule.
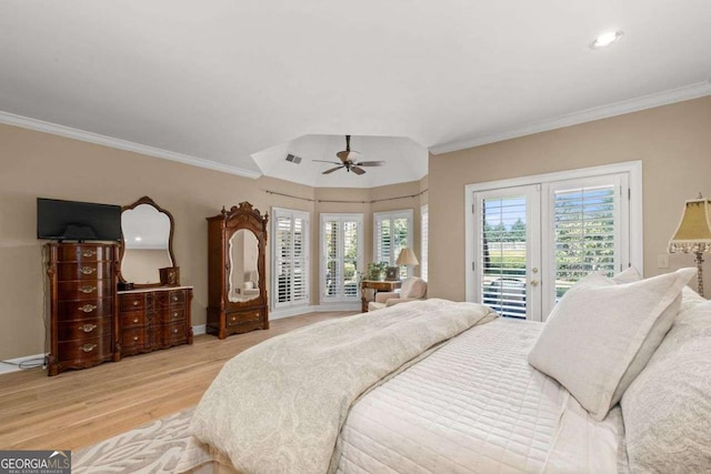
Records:
[[[192,167],[206,168],[208,170],[221,171],[223,173],[237,174],[239,177],[257,179],[262,175],[261,173],[256,171],[244,170],[238,167],[230,167],[229,164],[218,163],[216,161],[191,157],[189,154],[176,153],[173,151],[162,150],[160,148],[148,147],[127,140],[100,135],[98,133],[72,129],[70,127],[64,127],[57,123],[44,122],[42,120],[31,119],[29,117],[16,115],[14,113],[3,111],[0,111],[0,123],[21,127],[23,129],[37,130],[39,132],[51,133],[60,137],[67,137],[70,139],[114,148],[118,150],[147,154],[149,157],[162,158],[164,160],[177,161],[179,163],[190,164]]]

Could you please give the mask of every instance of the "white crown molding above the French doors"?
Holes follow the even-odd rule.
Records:
[[[430,148],[432,154],[442,154],[451,151],[464,150],[483,144],[495,143],[503,140],[562,129],[564,127],[578,125],[580,123],[592,122],[594,120],[608,119],[610,117],[623,115],[625,113],[638,112],[640,110],[652,109],[684,100],[698,99],[711,95],[711,81],[698,82],[683,88],[671,89],[664,92],[643,95],[637,99],[623,100],[608,105],[595,107],[582,110],[554,119],[542,120],[518,129],[502,130],[499,132],[474,137],[452,143],[438,144]]]

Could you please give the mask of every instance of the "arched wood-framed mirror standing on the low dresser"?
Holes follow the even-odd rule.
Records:
[[[160,286],[160,269],[177,266],[173,216],[143,196],[122,208],[121,233],[121,281],[134,288]]]

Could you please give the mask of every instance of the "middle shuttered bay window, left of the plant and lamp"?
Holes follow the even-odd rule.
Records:
[[[321,214],[321,301],[358,301],[362,214]]]

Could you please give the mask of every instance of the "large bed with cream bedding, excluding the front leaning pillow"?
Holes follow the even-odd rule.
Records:
[[[542,323],[490,321],[481,305],[430,300],[310,326],[296,336],[276,339],[273,347],[236,357],[198,406],[191,424],[196,443],[181,466],[340,474],[711,471],[711,363],[698,361],[699,355],[711,360],[711,303],[687,290],[684,295],[679,316],[680,297],[673,299],[675,323],[658,354],[622,403],[605,410],[600,421],[560,383],[529,364]],[[442,324],[449,324],[445,314],[452,311],[468,321],[450,327],[453,335],[438,325],[440,316]],[[401,326],[402,317],[411,326]],[[410,333],[417,339],[423,317],[441,334],[439,341],[429,334],[421,341],[422,356],[404,355],[402,363],[395,357],[399,351],[383,355],[374,349],[397,345]],[[372,334],[361,334],[373,324],[380,326]],[[385,337],[394,339],[387,343],[380,337],[389,331],[392,334]],[[336,339],[336,352],[292,352],[310,337]],[[244,374],[236,380],[249,371],[250,356],[263,360],[274,352],[280,355],[270,360],[261,379]],[[370,376],[360,381],[358,367],[368,374],[372,362],[362,352],[373,352],[374,360],[388,360],[395,369],[387,369],[388,375],[374,383]],[[349,365],[354,353],[365,359]],[[679,354],[681,359],[674,360]],[[312,367],[304,369],[304,360],[314,361]],[[670,363],[675,367],[671,373]],[[684,373],[685,365],[691,374]],[[379,364],[373,367],[383,370]],[[246,381],[266,389],[247,387]],[[341,385],[347,395],[336,390]],[[661,402],[652,401],[657,399]],[[650,405],[640,406],[644,403]],[[667,405],[660,409],[660,403]],[[684,417],[690,410],[695,418]],[[674,423],[677,418],[684,425]],[[262,430],[252,431],[253,425]]]

